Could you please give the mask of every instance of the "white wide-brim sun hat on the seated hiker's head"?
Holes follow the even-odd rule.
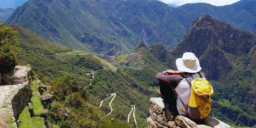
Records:
[[[178,58],[176,60],[176,66],[179,71],[187,73],[197,73],[202,69],[198,58],[192,52],[185,52],[182,58]]]

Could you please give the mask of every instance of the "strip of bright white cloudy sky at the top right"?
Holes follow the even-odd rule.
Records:
[[[236,3],[240,0],[159,0],[167,4],[183,5],[187,3],[208,3],[215,6],[223,6]]]

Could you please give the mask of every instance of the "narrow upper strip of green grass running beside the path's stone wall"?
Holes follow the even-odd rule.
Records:
[[[30,100],[33,105],[35,115],[40,115],[41,113],[44,112],[44,107],[41,104],[41,100],[40,100],[41,96],[37,93],[38,85],[36,83],[38,83],[37,80],[32,81],[32,84],[31,84],[32,97]]]

